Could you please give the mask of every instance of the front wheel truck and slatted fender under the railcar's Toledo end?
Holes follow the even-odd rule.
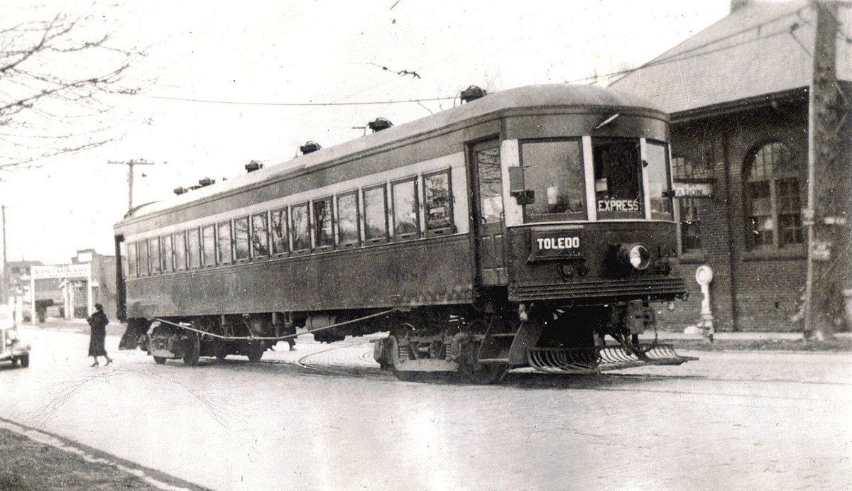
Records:
[[[570,309],[521,305],[518,311],[451,314],[443,328],[435,320],[417,323],[413,314],[375,345],[377,362],[400,380],[428,375],[492,383],[510,368],[593,374],[695,359],[678,356],[656,338],[639,342],[639,334],[653,328],[655,320],[653,309],[642,302]],[[607,344],[607,336],[615,343]]]

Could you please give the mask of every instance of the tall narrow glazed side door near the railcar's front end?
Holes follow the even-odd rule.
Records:
[[[476,279],[481,286],[508,284],[500,140],[469,147]]]

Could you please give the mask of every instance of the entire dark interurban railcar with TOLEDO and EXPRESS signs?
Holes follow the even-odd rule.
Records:
[[[122,345],[195,364],[388,332],[401,379],[682,363],[638,337],[686,294],[667,122],[606,88],[513,88],[135,208]]]

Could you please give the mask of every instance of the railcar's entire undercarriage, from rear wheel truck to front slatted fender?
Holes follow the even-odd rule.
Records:
[[[135,323],[147,323],[136,326],[145,333],[138,344],[156,363],[182,358],[188,365],[198,364],[199,357],[228,355],[259,361],[279,340],[295,337],[297,327],[329,343],[347,335],[389,331],[388,337],[375,343],[373,357],[400,380],[488,384],[502,379],[511,368],[594,374],[695,359],[677,355],[671,345],[660,344],[656,338],[640,342],[639,334],[655,328],[653,308],[641,301],[570,308],[521,304],[487,313],[451,306],[136,319]]]

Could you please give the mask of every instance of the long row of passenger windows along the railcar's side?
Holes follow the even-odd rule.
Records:
[[[140,277],[446,235],[454,229],[450,176],[441,170],[129,243],[125,271]]]

